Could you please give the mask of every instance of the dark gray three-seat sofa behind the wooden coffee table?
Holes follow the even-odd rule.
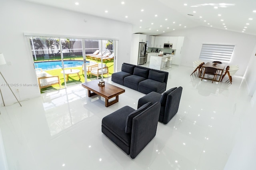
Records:
[[[123,63],[121,71],[112,74],[112,81],[144,94],[166,90],[168,72]]]

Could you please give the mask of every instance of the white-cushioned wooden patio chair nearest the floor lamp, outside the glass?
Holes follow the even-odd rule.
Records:
[[[36,69],[36,76],[38,78],[38,86],[40,89],[56,84],[60,86],[60,78],[58,75],[50,75],[49,73],[42,71],[41,68],[38,68]]]

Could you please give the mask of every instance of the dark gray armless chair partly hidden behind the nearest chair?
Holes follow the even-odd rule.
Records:
[[[162,95],[152,91],[139,99],[138,108],[148,102],[160,102],[161,109],[158,121],[167,124],[178,112],[181,94],[182,87],[174,87]]]

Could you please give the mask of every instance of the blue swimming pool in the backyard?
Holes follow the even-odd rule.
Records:
[[[80,67],[84,63],[84,61],[63,61],[64,62],[64,68],[66,67]],[[86,61],[86,63],[90,63],[89,61]],[[48,62],[38,62],[34,63],[35,68],[41,68],[43,70],[49,70],[49,69],[61,69],[62,68],[62,62],[61,61],[48,61]]]

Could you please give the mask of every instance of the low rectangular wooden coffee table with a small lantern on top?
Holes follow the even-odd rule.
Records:
[[[94,95],[100,95],[105,98],[105,106],[109,107],[114,103],[118,102],[118,95],[125,92],[124,89],[120,87],[116,87],[112,84],[106,83],[105,86],[101,87],[98,85],[99,80],[89,81],[82,83],[82,87],[88,90],[88,97],[92,97]],[[112,101],[108,101],[109,99],[116,97],[116,99]]]

